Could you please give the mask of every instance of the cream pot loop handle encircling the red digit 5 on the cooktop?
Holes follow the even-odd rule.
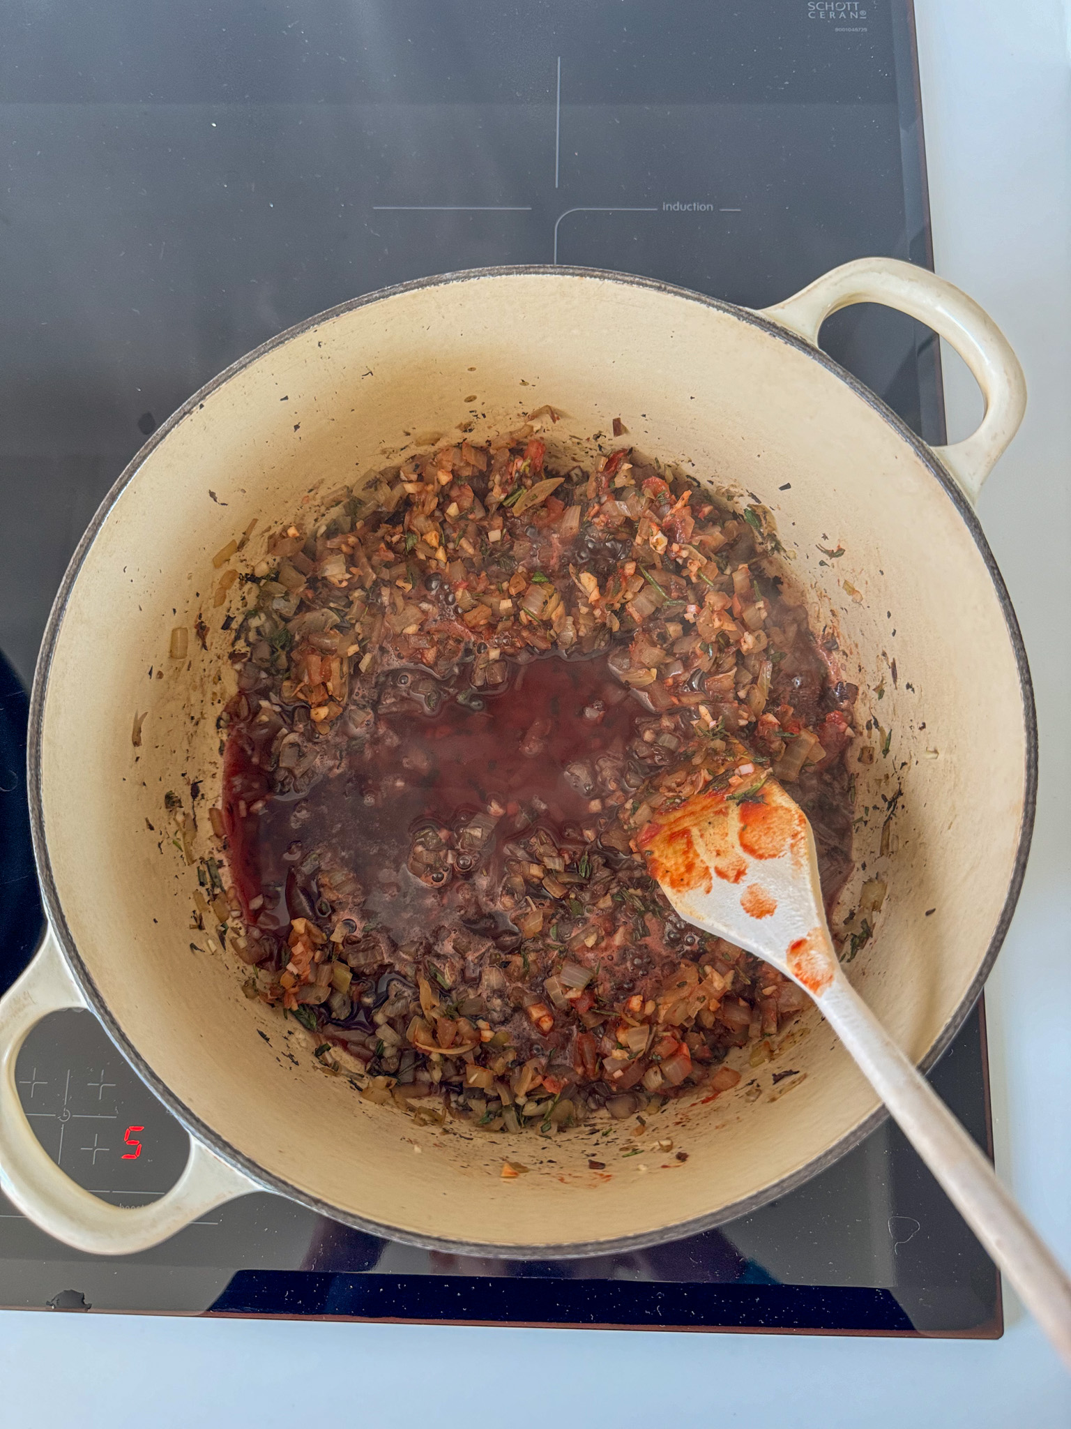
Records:
[[[87,1255],[133,1255],[160,1245],[206,1210],[261,1190],[201,1142],[174,1186],[147,1206],[110,1206],[60,1170],[33,1133],[14,1066],[30,1030],[50,1012],[86,999],[49,929],[33,962],[0,999],[0,1189],[36,1226]]]

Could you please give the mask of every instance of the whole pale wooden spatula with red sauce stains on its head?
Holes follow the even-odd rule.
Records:
[[[803,809],[763,769],[694,795],[640,833],[670,903],[815,999],[860,1070],[1071,1369],[1071,1280],[990,1162],[841,970]]]

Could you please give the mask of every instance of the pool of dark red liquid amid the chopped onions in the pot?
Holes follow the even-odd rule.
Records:
[[[310,736],[317,757],[301,793],[271,792],[256,723],[231,730],[224,817],[250,922],[284,932],[291,917],[346,912],[320,900],[318,855],[328,877],[356,875],[363,916],[398,945],[434,945],[458,920],[483,920],[500,946],[520,942],[498,906],[516,840],[543,827],[565,857],[590,845],[625,796],[620,777],[617,792],[607,779],[645,712],[604,657],[503,664],[504,683],[480,692],[386,673],[367,732]],[[414,859],[421,840],[436,855],[426,865]]]

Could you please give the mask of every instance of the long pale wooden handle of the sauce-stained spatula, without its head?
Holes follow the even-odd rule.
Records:
[[[1071,1279],[971,1136],[843,972],[820,997],[833,1029],[967,1225],[1071,1369]]]

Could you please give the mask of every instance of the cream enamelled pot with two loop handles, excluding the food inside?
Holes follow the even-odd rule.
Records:
[[[858,302],[910,313],[962,354],[985,396],[967,442],[930,449],[818,350],[823,320]],[[93,1253],[140,1250],[268,1189],[424,1246],[578,1256],[740,1216],[854,1146],[883,1110],[815,1010],[774,1063],[751,1069],[744,1052],[734,1092],[704,1105],[700,1090],[660,1113],[685,1163],[620,1159],[634,1127],[611,1123],[608,1175],[588,1169],[583,1130],[548,1140],[417,1127],[326,1075],[301,1029],[247,1000],[234,959],[190,932],[196,870],[161,839],[169,790],[186,809],[191,780],[198,810],[218,796],[217,716],[234,689],[221,623],[246,596],[238,582],[216,604],[211,557],[256,517],[241,557],[253,564],[310,492],[314,503],[414,444],[508,430],[544,404],[563,413],[551,446],[620,416],[645,454],[758,499],[813,623],[837,642],[843,679],[860,686],[860,725],[874,722],[858,742],[873,763],[857,760],[867,873],[848,885],[841,919],[861,877],[888,892],[850,973],[928,1066],[992,965],[1030,842],[1030,676],[971,507],[1024,403],[1020,366],[985,313],[888,259],[835,269],[761,313],[614,273],[450,274],[310,319],[198,392],[94,517],[37,666],[30,796],[50,932],[0,1013],[0,1182],[14,1205]],[[173,627],[193,632],[198,617],[206,647],[191,637],[188,656],[170,659]],[[210,839],[201,813],[197,856]],[[183,1177],[153,1205],[81,1190],[21,1112],[23,1039],[46,1013],[80,1006],[190,1133]],[[778,1067],[797,1075],[774,1086]],[[530,1175],[503,1180],[507,1157]]]

